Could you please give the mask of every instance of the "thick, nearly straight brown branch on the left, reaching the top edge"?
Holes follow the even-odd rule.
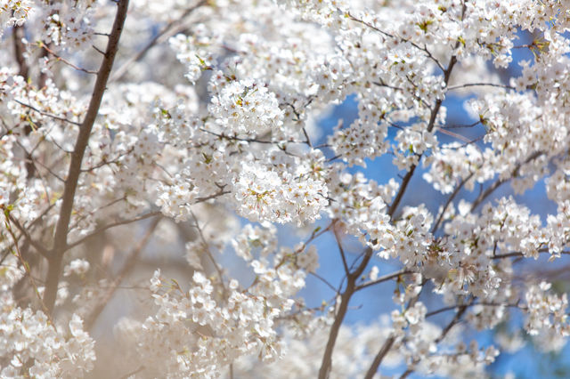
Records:
[[[105,93],[107,81],[109,80],[110,70],[113,67],[113,61],[115,60],[115,55],[118,51],[118,40],[125,24],[127,8],[128,0],[118,1],[117,14],[109,36],[107,50],[104,54],[101,68],[97,73],[97,80],[95,81],[93,94],[91,96],[91,101],[89,102],[89,108],[87,109],[83,123],[81,123],[75,148],[71,155],[69,172],[63,189],[60,216],[55,228],[55,237],[53,238],[53,252],[49,259],[47,278],[45,280],[44,302],[49,313],[53,312],[57,286],[60,281],[61,263],[63,262],[63,254],[67,246],[69,220],[73,210],[73,202],[77,189],[77,182],[79,180],[79,174],[81,173],[81,162],[83,161],[85,149],[87,147],[89,137],[91,136],[91,130],[93,129],[95,118],[99,113],[102,97]]]

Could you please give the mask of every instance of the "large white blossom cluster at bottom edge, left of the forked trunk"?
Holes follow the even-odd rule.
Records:
[[[119,328],[117,333],[132,334],[141,363],[150,365],[156,375],[216,377],[242,355],[275,359],[281,354],[273,319],[286,308],[267,309],[265,298],[240,291],[236,280],[228,284],[227,302],[220,307],[204,274],[196,271],[192,280],[191,289],[183,292],[175,282],[163,283],[155,272],[151,279],[155,316],[142,323],[124,321]]]

